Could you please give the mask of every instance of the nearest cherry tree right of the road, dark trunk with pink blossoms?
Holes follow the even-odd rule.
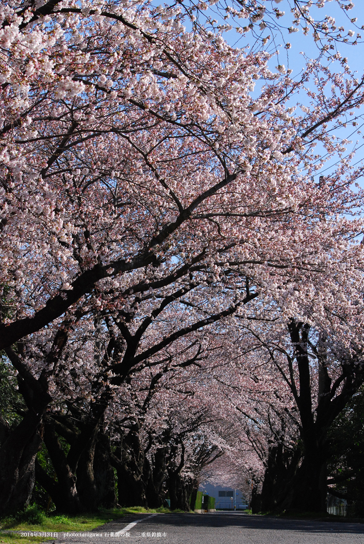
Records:
[[[364,382],[361,327],[347,321],[345,341],[332,321],[330,331],[318,331],[312,322],[273,316],[245,316],[240,335],[230,331],[229,347],[217,357],[221,410],[229,407],[225,418],[236,430],[235,465],[244,466],[244,458],[256,511],[326,511],[328,431]]]

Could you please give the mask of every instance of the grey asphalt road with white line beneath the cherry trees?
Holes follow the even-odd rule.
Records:
[[[59,533],[57,544],[364,544],[364,524],[295,521],[238,512],[139,514],[84,535]]]

